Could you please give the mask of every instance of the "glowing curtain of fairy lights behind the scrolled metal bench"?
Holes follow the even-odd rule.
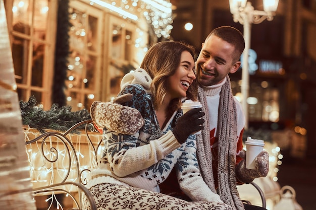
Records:
[[[29,142],[41,133],[25,129],[24,134],[24,141]],[[54,185],[61,183],[62,180],[80,182],[78,170],[79,172],[83,172],[87,169],[92,170],[96,168],[96,157],[101,156],[103,147],[100,146],[98,148],[95,157],[94,148],[92,148],[91,144],[87,143],[88,140],[85,134],[69,134],[67,137],[74,147],[74,151],[70,150],[71,147],[67,144],[66,139],[55,135],[48,136],[45,140],[40,139],[35,143],[26,145],[33,188]],[[89,137],[94,146],[100,141],[99,134],[90,134]],[[63,142],[68,146],[65,146]],[[86,175],[86,172],[80,174],[83,183],[85,183]],[[78,191],[76,186],[70,185],[64,185],[61,189],[70,193]],[[64,204],[56,196],[56,192],[47,192],[46,195],[47,210],[52,208],[53,203],[56,204],[57,209],[63,209]],[[68,196],[69,194],[66,193],[66,197]]]

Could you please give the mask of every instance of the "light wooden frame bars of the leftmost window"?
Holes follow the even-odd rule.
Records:
[[[32,19],[30,23],[30,34],[21,34],[13,30],[13,4],[14,0],[5,0],[8,31],[10,37],[10,44],[12,47],[13,36],[20,37],[29,42],[28,46],[28,65],[24,69],[27,74],[27,80],[23,83],[17,83],[18,91],[23,91],[24,94],[19,96],[19,100],[28,101],[31,96],[31,92],[38,92],[41,94],[41,100],[37,101],[37,104],[41,105],[44,109],[49,109],[51,106],[51,86],[54,77],[54,57],[55,57],[55,42],[56,42],[56,28],[57,28],[57,8],[58,0],[47,0],[48,12],[47,12],[47,23],[46,23],[46,33],[45,39],[37,39],[33,36],[33,28],[36,25],[36,20],[34,20],[34,8],[35,3],[38,0],[29,0],[29,4],[33,4],[32,11],[30,13]],[[31,75],[32,75],[32,59],[33,59],[33,45],[34,43],[43,44],[44,56],[43,56],[43,74],[42,74],[42,87],[31,85]]]

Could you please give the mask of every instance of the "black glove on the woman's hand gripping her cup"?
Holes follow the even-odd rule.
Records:
[[[180,144],[184,143],[191,133],[203,129],[204,119],[201,117],[204,115],[202,108],[195,108],[187,111],[177,120],[173,134]]]

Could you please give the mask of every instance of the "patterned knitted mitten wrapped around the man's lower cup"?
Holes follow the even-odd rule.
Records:
[[[269,153],[262,151],[254,160],[255,169],[246,168],[246,151],[239,155],[243,160],[236,166],[236,177],[243,183],[250,183],[258,177],[266,177],[269,172]]]

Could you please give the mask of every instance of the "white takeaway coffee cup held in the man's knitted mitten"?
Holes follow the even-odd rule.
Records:
[[[246,168],[255,169],[254,159],[259,155],[260,152],[264,149],[265,142],[259,139],[252,139],[247,137],[246,141]]]

